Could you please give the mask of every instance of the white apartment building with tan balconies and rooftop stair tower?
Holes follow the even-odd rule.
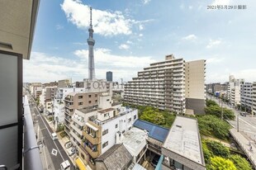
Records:
[[[76,109],[69,125],[70,141],[78,148],[78,156],[92,168],[94,160],[116,144],[116,133],[124,133],[138,119],[138,111],[111,107],[111,96],[103,93],[98,106]]]

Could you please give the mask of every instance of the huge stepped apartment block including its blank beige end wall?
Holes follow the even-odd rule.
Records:
[[[191,64],[191,67],[188,65]],[[198,111],[196,99],[199,101],[204,97],[205,87],[205,60],[187,63],[187,103],[190,110]],[[198,64],[198,68],[197,68]],[[161,110],[177,113],[186,111],[186,63],[184,59],[175,59],[173,54],[167,55],[162,62],[150,64],[143,71],[138,72],[137,78],[132,78],[125,85],[125,102],[135,105],[149,105]],[[200,67],[199,67],[200,65]],[[189,69],[188,69],[189,68]],[[200,71],[197,71],[200,69]],[[191,72],[191,73],[190,73]],[[200,73],[198,78],[194,73]],[[191,79],[191,81],[189,81]],[[197,86],[197,83],[198,86]],[[197,91],[195,89],[197,88]],[[195,99],[195,100],[192,100]],[[202,102],[201,102],[202,103]],[[196,112],[197,113],[197,112]],[[198,113],[201,113],[200,111]]]

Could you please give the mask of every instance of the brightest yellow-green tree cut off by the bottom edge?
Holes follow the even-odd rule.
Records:
[[[236,170],[234,163],[230,159],[221,157],[211,158],[210,164],[206,168],[207,170]]]

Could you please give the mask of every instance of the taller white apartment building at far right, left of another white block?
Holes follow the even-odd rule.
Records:
[[[230,104],[237,106],[240,104],[240,86],[244,84],[244,79],[236,79],[233,75],[230,75],[229,87],[228,87],[228,99]]]

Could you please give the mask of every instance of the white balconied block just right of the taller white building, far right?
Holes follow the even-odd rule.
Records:
[[[251,111],[251,107],[253,105],[253,84],[252,83],[244,83],[240,86],[240,102],[242,106],[245,106],[246,111]]]

